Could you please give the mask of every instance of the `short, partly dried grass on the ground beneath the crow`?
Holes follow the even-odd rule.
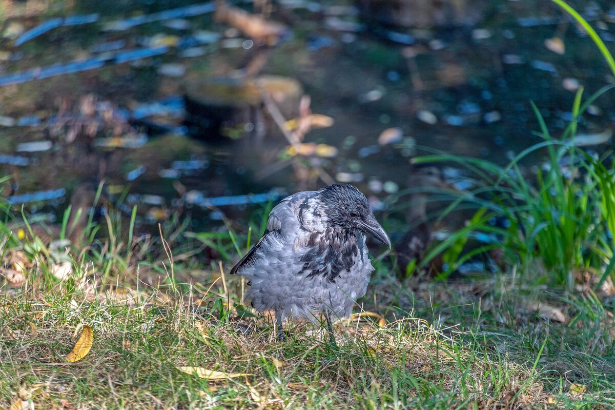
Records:
[[[58,281],[31,271],[22,286],[4,290],[0,405],[20,391],[35,408],[608,408],[615,401],[609,310],[525,289],[514,278],[412,292],[381,271],[368,299],[375,305],[365,308],[387,323],[338,324],[333,348],[323,329],[306,324],[277,342],[267,318],[237,303],[235,278],[223,285],[208,275],[177,292],[146,286],[145,276],[138,291],[93,286],[96,273],[79,276]],[[567,323],[547,319],[541,303],[565,312]],[[82,324],[93,329],[92,350],[67,363]],[[178,366],[250,376],[205,380]],[[585,392],[571,392],[573,384]]]

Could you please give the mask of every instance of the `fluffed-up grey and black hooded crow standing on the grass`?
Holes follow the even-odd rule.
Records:
[[[391,241],[354,185],[337,183],[301,191],[269,213],[263,237],[231,269],[247,279],[246,300],[259,312],[276,312],[277,334],[285,340],[287,319],[331,320],[351,315],[367,292],[371,266],[366,234],[389,248]]]

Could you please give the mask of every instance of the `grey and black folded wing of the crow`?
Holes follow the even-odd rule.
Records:
[[[263,240],[268,235],[281,235],[287,237],[293,235],[300,229],[300,222],[297,217],[298,207],[306,199],[314,196],[316,191],[302,191],[296,194],[287,196],[282,199],[282,202],[277,204],[274,209],[269,212],[269,220],[267,221],[267,229],[263,233],[263,237],[255,244],[255,246],[242,257],[237,264],[232,267],[231,275],[235,275],[244,265],[252,265],[255,262],[256,251],[260,248]]]

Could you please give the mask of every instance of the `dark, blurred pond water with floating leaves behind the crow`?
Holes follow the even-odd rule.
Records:
[[[195,229],[241,222],[250,203],[330,180],[386,204],[407,188],[421,147],[504,164],[539,141],[530,101],[557,137],[578,87],[589,95],[613,82],[587,34],[549,2],[492,2],[471,27],[391,29],[364,25],[352,2],[282,1],[271,20],[288,32],[271,47],[215,22],[211,2],[3,3],[0,174],[12,179],[2,195],[50,219],[100,180],[151,227],[178,208]],[[613,6],[580,11],[613,50]],[[194,84],[235,81],[259,58],[258,75],[296,79],[311,111],[334,121],[305,135],[326,148],[305,166],[262,108],[222,137],[186,121],[184,96],[207,96]],[[614,103],[597,100],[579,131],[606,135]],[[292,119],[298,99],[279,108]]]

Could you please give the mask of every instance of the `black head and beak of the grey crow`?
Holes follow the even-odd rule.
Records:
[[[331,227],[360,230],[378,239],[388,247],[391,240],[371,212],[365,195],[354,185],[336,183],[319,191],[320,206]]]

